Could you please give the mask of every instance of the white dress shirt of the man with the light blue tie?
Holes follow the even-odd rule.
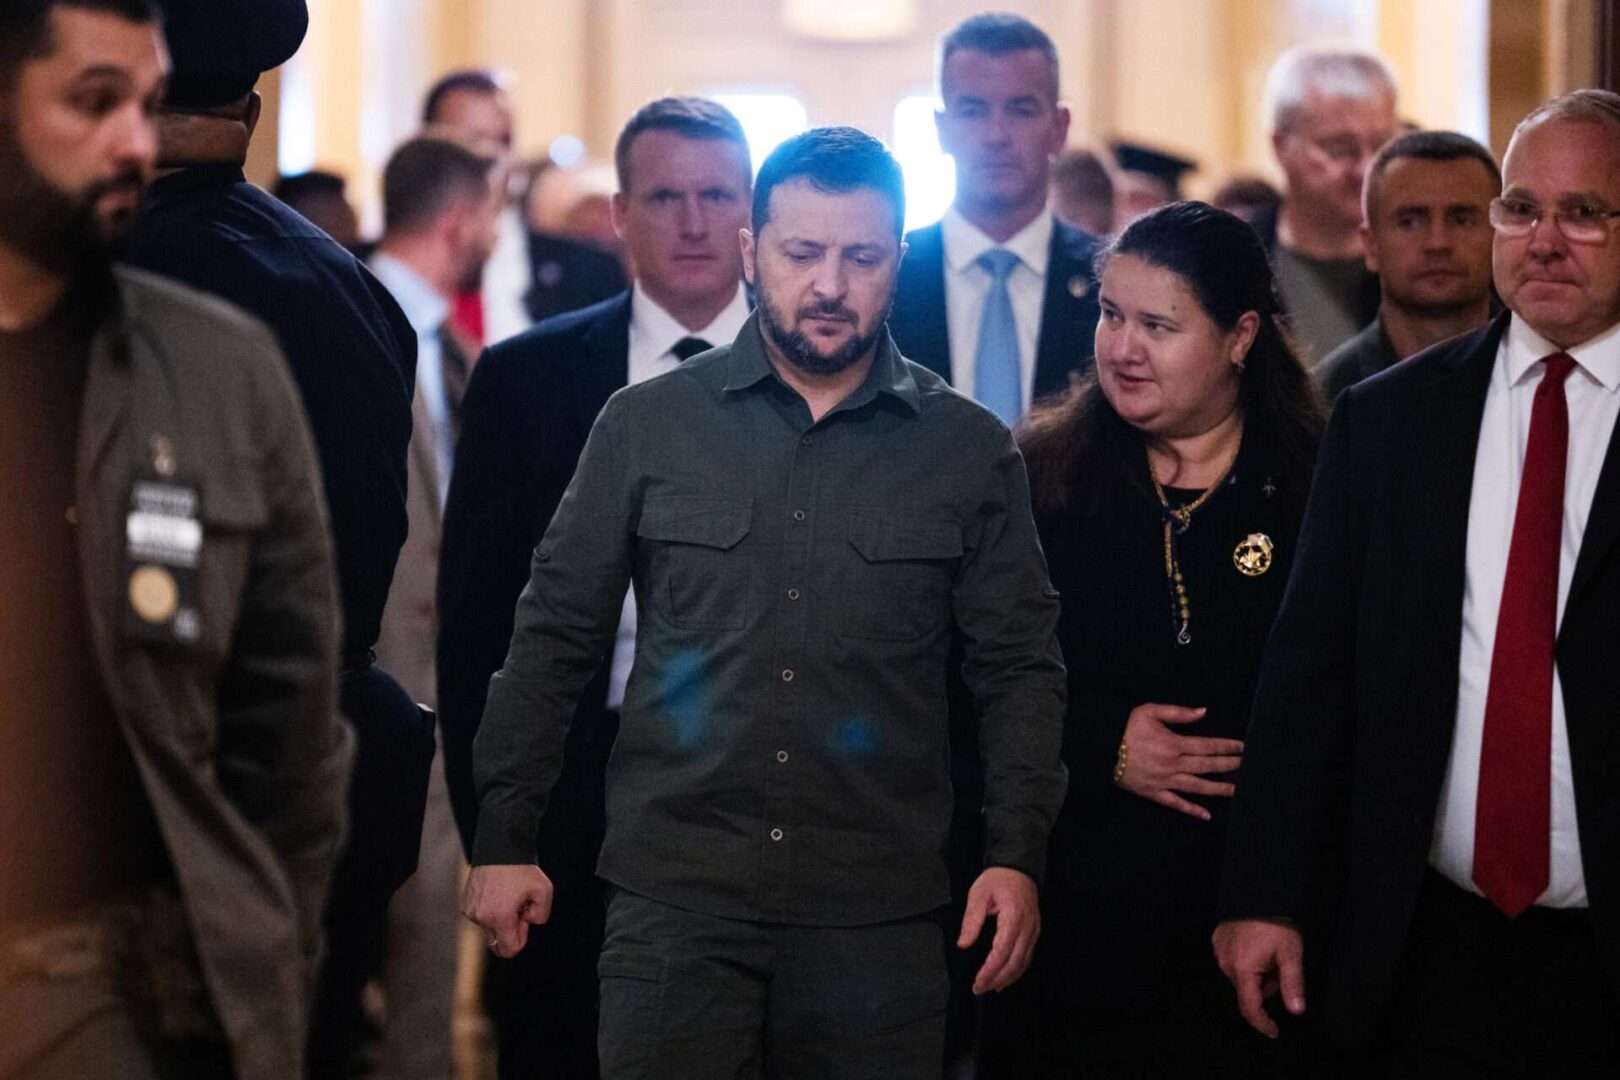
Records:
[[[944,241],[944,321],[951,334],[951,385],[974,395],[974,368],[978,358],[978,324],[990,295],[990,270],[978,256],[1006,248],[1017,256],[1008,275],[1013,322],[1017,324],[1019,395],[1029,408],[1035,389],[1035,345],[1040,338],[1040,311],[1047,296],[1047,264],[1051,261],[1051,210],[998,244],[953,206],[940,222]]]

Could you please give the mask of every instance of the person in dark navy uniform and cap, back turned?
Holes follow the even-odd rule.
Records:
[[[405,453],[416,335],[377,280],[330,236],[243,178],[261,71],[308,26],[305,0],[165,0],[173,76],[159,167],[130,236],[133,266],[240,304],[275,332],[321,457],[343,599],[340,706],[358,751],[348,850],[327,905],[313,1070],[342,1069],[389,897],[416,868],[433,724],[373,667],[405,541]]]

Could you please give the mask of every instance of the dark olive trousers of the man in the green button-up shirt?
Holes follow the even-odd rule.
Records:
[[[616,889],[599,962],[606,1080],[936,1080],[938,915],[782,926]]]

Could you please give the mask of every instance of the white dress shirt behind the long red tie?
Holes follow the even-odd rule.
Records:
[[[1484,742],[1490,654],[1497,612],[1508,568],[1520,473],[1529,439],[1531,403],[1545,366],[1537,363],[1558,348],[1521,319],[1508,322],[1497,351],[1486,411],[1474,452],[1474,487],[1468,508],[1468,565],[1463,586],[1463,648],[1458,661],[1456,733],[1452,761],[1434,824],[1429,861],[1458,886],[1479,892],[1474,874],[1474,806],[1479,795],[1479,755]],[[1576,348],[1563,350],[1576,368],[1563,384],[1570,408],[1570,452],[1563,478],[1563,544],[1558,551],[1558,622],[1570,594],[1575,560],[1597,491],[1597,474],[1620,416],[1620,325]],[[1570,771],[1570,732],[1563,714],[1563,683],[1552,672],[1552,870],[1544,907],[1586,907],[1581,837],[1575,823],[1575,779]]]

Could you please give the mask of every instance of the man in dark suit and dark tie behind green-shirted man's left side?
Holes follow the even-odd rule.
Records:
[[[468,852],[484,691],[505,659],[530,557],[596,413],[614,390],[731,342],[748,316],[739,230],[753,172],[735,117],[703,99],[651,102],[619,134],[614,164],[614,227],[635,285],[491,348],[463,402],[439,563],[439,708],[450,803]],[[489,962],[486,1007],[502,1077],[596,1077],[603,769],[633,646],[635,606],[625,597],[614,653],[585,693],[539,832],[557,905],[528,949]]]

